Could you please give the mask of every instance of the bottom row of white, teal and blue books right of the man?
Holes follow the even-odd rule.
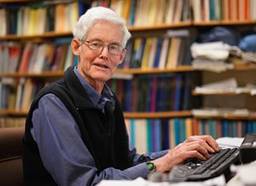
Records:
[[[131,144],[138,153],[173,148],[188,136],[244,137],[256,132],[256,121],[200,120],[196,118],[126,119]]]

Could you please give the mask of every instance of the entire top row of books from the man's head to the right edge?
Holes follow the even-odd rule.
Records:
[[[183,21],[255,21],[255,5],[255,0],[97,0],[92,3],[92,6],[115,10],[129,26]]]

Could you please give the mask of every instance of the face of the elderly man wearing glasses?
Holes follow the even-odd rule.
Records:
[[[102,41],[102,50],[92,50],[89,43],[80,45],[80,62],[78,70],[89,83],[104,83],[108,81],[116,71],[118,64],[125,57],[125,51],[120,54],[110,54],[107,45],[121,45],[123,32],[120,26],[108,21],[95,23],[89,30],[84,41]]]

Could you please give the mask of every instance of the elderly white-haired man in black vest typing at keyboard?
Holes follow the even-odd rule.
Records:
[[[219,150],[210,136],[192,136],[175,147],[136,154],[124,116],[106,81],[125,57],[131,34],[108,8],[91,8],[73,30],[77,67],[39,92],[26,120],[26,185],[95,185],[102,179],[135,179],[167,172],[188,158],[206,160]]]

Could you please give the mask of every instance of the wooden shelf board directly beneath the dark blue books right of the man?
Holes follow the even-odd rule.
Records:
[[[125,118],[176,118],[176,117],[190,117],[190,111],[168,111],[168,112],[125,112]]]

